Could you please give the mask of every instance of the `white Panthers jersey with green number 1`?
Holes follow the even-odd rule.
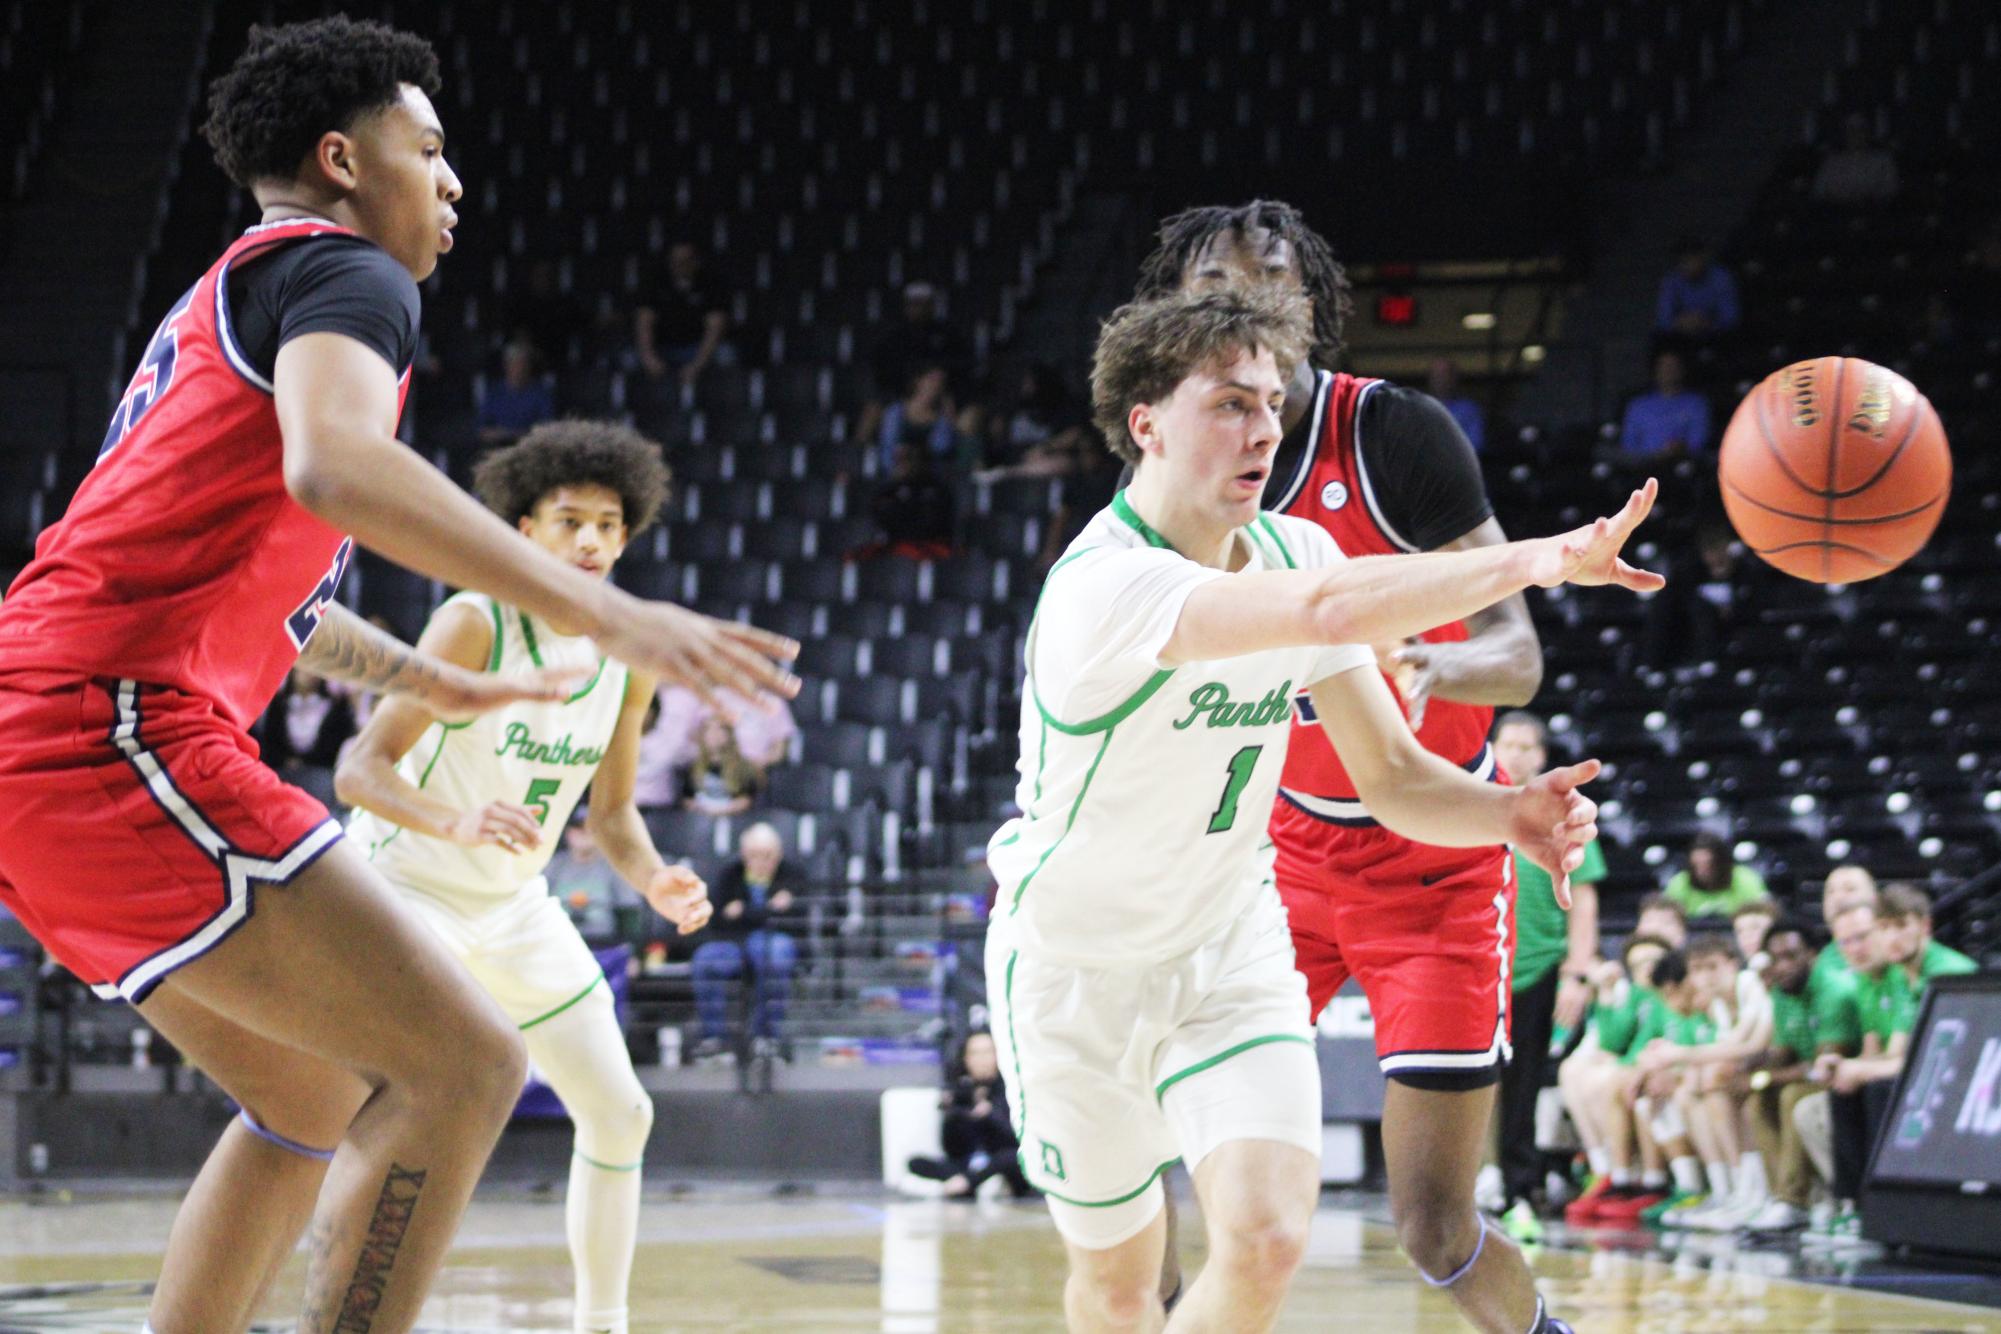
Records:
[[[1343,560],[1319,526],[1283,514],[1235,540],[1245,572]],[[1293,696],[1375,654],[1345,644],[1163,668],[1183,604],[1215,578],[1125,492],[1051,568],[1027,642],[1023,814],[986,850],[994,922],[1017,948],[1079,966],[1161,962],[1277,892],[1265,826]]]

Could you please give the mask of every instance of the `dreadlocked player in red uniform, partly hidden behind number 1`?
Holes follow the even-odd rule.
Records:
[[[1349,556],[1507,540],[1473,446],[1437,400],[1335,370],[1349,278],[1297,208],[1255,200],[1175,214],[1141,270],[1141,296],[1237,284],[1281,284],[1313,302],[1315,346],[1311,364],[1301,362],[1287,386],[1267,510],[1313,520]],[[1487,746],[1493,706],[1527,704],[1543,676],[1519,594],[1405,644],[1379,646],[1377,656],[1427,750],[1505,780]],[[1369,996],[1377,1058],[1389,1076],[1383,1156],[1403,1250],[1477,1328],[1563,1330],[1545,1314],[1521,1252],[1489,1234],[1473,1196],[1495,1084],[1511,1058],[1511,1000],[1521,1010],[1515,1038],[1529,1058],[1521,1066],[1539,1066],[1553,1012],[1583,1008],[1583,982],[1571,978],[1595,954],[1597,900],[1579,886],[1561,1004],[1559,970],[1547,964],[1547,976],[1529,978],[1533,986],[1511,996],[1509,850],[1431,848],[1389,832],[1357,798],[1305,696],[1295,700],[1295,724],[1271,822],[1279,894],[1315,1018],[1351,976]],[[1525,1202],[1537,1186],[1541,1068],[1519,1068],[1507,1082],[1501,1142],[1513,1158],[1509,1190],[1523,1202],[1511,1220],[1533,1224]],[[1515,1146],[1529,1152],[1517,1156]]]

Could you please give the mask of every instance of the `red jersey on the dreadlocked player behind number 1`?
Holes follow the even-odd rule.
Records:
[[[1325,528],[1347,556],[1395,556],[1419,550],[1383,518],[1369,484],[1369,468],[1361,458],[1355,424],[1377,384],[1381,380],[1319,372],[1307,434],[1309,454],[1277,506],[1283,514],[1297,514]],[[1433,644],[1465,640],[1467,626],[1455,620],[1427,630],[1423,638]],[[1391,682],[1391,692],[1395,690],[1397,682]],[[1401,704],[1403,696],[1397,702]],[[1297,700],[1295,720],[1301,726],[1293,730],[1285,754],[1281,792],[1337,824],[1373,824],[1357,806],[1355,784],[1319,728],[1305,694]],[[1485,704],[1433,698],[1425,706],[1425,726],[1417,730],[1417,740],[1425,750],[1471,770],[1483,762],[1491,724],[1493,708]]]

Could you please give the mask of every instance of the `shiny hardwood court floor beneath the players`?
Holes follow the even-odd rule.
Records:
[[[158,1194],[0,1202],[0,1332],[136,1330],[172,1210]],[[1727,1246],[1671,1260],[1545,1248],[1535,1268],[1581,1334],[2001,1332],[2001,1310],[1797,1282],[1769,1272],[1781,1260]],[[1061,1276],[1063,1254],[1041,1206],[698,1188],[646,1200],[632,1328],[1055,1330]],[[294,1262],[260,1328],[290,1328],[298,1282]],[[422,1328],[562,1332],[568,1282],[562,1206],[488,1190]],[[1415,1282],[1389,1228],[1329,1204],[1281,1328],[1457,1334],[1465,1326]]]

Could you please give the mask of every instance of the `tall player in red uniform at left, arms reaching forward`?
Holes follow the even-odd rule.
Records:
[[[408,1330],[520,1092],[514,1024],[246,728],[294,662],[444,720],[580,682],[366,626],[336,602],[354,544],[640,672],[796,688],[790,642],[620,594],[396,440],[460,196],[436,90],[432,48],[380,24],[252,30],[206,134],[262,222],[168,310],[0,606],[0,902],[242,1104],[154,1334],[248,1328],[308,1220],[300,1328]]]

